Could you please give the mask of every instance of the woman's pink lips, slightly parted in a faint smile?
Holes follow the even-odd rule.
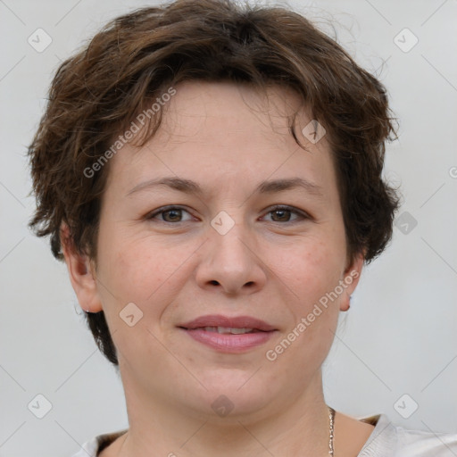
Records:
[[[205,327],[253,328],[256,331],[232,335],[207,331]],[[227,317],[214,314],[201,316],[179,328],[195,341],[221,353],[243,353],[264,345],[277,330],[267,322],[250,316]]]

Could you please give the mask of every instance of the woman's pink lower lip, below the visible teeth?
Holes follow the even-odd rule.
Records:
[[[253,347],[265,344],[275,331],[244,333],[233,335],[228,333],[209,332],[203,328],[184,329],[189,337],[222,353],[241,353]]]

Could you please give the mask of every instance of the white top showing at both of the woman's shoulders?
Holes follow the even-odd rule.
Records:
[[[457,434],[407,430],[395,426],[384,414],[361,419],[375,426],[358,457],[453,457]],[[73,457],[96,457],[127,430],[99,435],[87,441]],[[337,453],[337,450],[336,450]]]

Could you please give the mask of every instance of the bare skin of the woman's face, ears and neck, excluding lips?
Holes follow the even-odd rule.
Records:
[[[96,262],[64,245],[79,304],[104,311],[120,360],[129,431],[101,455],[328,455],[321,365],[363,258],[347,263],[326,137],[316,144],[303,137],[312,118],[301,111],[296,131],[305,149],[295,143],[286,116],[297,97],[284,87],[271,87],[268,97],[232,83],[176,89],[156,135],[141,148],[125,145],[110,161]],[[192,179],[202,194],[162,186],[127,195],[169,176]],[[297,177],[319,186],[320,195],[300,187],[255,192],[263,180]],[[275,204],[292,212],[272,211]],[[184,211],[147,219],[165,205]],[[210,223],[221,211],[235,223],[225,235]],[[352,283],[269,361],[266,351],[351,272]],[[143,312],[133,327],[119,316],[127,303]],[[247,314],[277,331],[265,345],[234,354],[177,328],[213,313]],[[220,395],[234,405],[225,417],[211,406]],[[357,455],[372,429],[337,412],[336,455]]]

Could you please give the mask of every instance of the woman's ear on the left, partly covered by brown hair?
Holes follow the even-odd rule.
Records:
[[[85,312],[100,312],[102,302],[96,286],[96,268],[87,255],[77,253],[71,242],[70,228],[65,222],[61,225],[62,253],[65,257],[71,286],[77,297],[79,306]]]

